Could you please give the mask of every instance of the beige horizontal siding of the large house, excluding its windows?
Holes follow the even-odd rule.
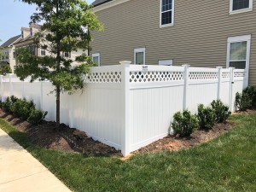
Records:
[[[229,0],[175,1],[174,26],[160,28],[160,0],[131,0],[96,12],[104,32],[93,32],[92,52],[102,65],[134,61],[146,49],[146,64],[226,66],[227,38],[251,34],[250,83],[256,84],[256,1],[253,11],[230,15]]]

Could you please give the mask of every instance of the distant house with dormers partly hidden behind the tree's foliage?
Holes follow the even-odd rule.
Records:
[[[43,49],[41,47],[37,47],[34,44],[33,38],[35,33],[39,32],[41,30],[41,26],[36,25],[36,24],[31,24],[29,28],[26,27],[21,27],[21,38],[19,41],[15,42],[15,49],[16,49],[16,54],[19,54],[19,49],[20,48],[27,48],[30,50],[32,55],[37,55],[37,56],[45,56],[45,55],[51,55],[48,50]],[[47,43],[44,43],[47,44]],[[72,59],[73,61],[75,60],[75,57],[77,55],[81,55],[82,53],[87,53],[86,50],[82,51],[73,51],[71,53],[62,53],[63,56]],[[74,62],[73,66],[75,66],[77,63]],[[17,64],[18,65],[18,64]]]

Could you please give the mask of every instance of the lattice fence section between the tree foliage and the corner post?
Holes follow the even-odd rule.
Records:
[[[96,72],[89,73],[86,83],[121,83],[121,72]]]

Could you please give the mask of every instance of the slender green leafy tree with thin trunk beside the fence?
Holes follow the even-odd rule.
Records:
[[[38,57],[26,49],[19,49],[17,60],[21,65],[15,73],[21,80],[31,76],[35,79],[48,79],[55,86],[56,124],[60,125],[61,92],[72,94],[82,89],[84,77],[93,65],[90,56],[81,54],[75,60],[67,58],[64,53],[81,49],[90,49],[90,31],[101,31],[102,25],[92,12],[91,6],[83,0],[21,0],[38,6],[37,13],[31,17],[32,23],[44,22],[40,32],[34,36],[37,47],[49,51],[50,55]],[[79,65],[73,67],[73,62]]]

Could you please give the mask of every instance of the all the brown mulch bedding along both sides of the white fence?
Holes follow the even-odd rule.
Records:
[[[252,114],[255,111],[247,110],[246,112],[238,112],[241,114]],[[55,122],[44,121],[42,125],[31,125],[25,120],[15,118],[11,114],[4,113],[0,109],[0,117],[9,121],[11,125],[22,132],[26,132],[29,141],[35,145],[61,150],[71,153],[81,153],[88,156],[111,156],[120,157],[121,152],[115,148],[111,148],[100,142],[94,141],[87,137],[84,131],[69,128],[67,125],[61,125],[61,128],[56,129]],[[133,152],[132,154],[155,153],[164,150],[177,151],[179,149],[187,149],[201,143],[206,143],[215,137],[229,131],[234,127],[234,124],[218,124],[210,131],[197,130],[190,137],[175,137],[168,136],[160,139],[157,142],[151,143],[144,148]]]

